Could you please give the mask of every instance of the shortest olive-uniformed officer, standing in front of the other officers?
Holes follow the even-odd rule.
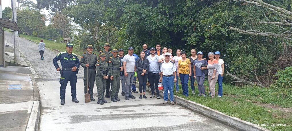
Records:
[[[97,104],[103,105],[107,103],[105,100],[105,87],[107,84],[107,79],[109,78],[109,65],[106,62],[107,55],[105,53],[100,54],[100,60],[96,63],[96,86],[97,86],[97,94],[98,94],[98,101]]]

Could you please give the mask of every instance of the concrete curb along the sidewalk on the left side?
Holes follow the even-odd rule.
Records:
[[[34,91],[34,103],[25,131],[37,131],[39,128],[39,118],[41,114],[41,101],[39,98],[39,90],[34,76],[32,74],[29,74],[29,77],[32,81],[32,88]]]

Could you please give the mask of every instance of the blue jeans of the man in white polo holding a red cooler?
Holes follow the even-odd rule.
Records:
[[[164,88],[164,101],[168,100],[168,90],[169,90],[169,99],[170,101],[173,101],[173,85],[174,85],[174,76],[171,77],[165,77],[163,76],[162,78],[162,84],[163,84],[163,88]]]

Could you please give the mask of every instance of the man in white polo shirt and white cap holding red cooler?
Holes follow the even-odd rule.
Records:
[[[162,82],[163,84],[163,88],[164,88],[164,102],[163,104],[167,103],[168,100],[168,94],[166,92],[168,92],[169,90],[169,94],[170,94],[170,104],[174,105],[173,102],[173,84],[174,82],[177,81],[176,79],[176,69],[175,69],[175,64],[173,61],[170,61],[170,53],[165,53],[164,57],[165,57],[165,61],[161,62],[161,69],[160,69],[160,79],[159,82]]]

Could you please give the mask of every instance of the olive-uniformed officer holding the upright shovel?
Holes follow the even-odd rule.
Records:
[[[93,86],[95,81],[95,65],[97,62],[96,54],[92,53],[93,46],[87,45],[86,48],[87,52],[84,52],[80,59],[80,65],[84,68],[84,94],[87,93],[87,79],[88,79],[88,86],[89,86],[89,94],[90,100],[94,101],[93,98]],[[88,63],[87,63],[88,62]],[[88,68],[88,78],[87,78],[87,68]]]

